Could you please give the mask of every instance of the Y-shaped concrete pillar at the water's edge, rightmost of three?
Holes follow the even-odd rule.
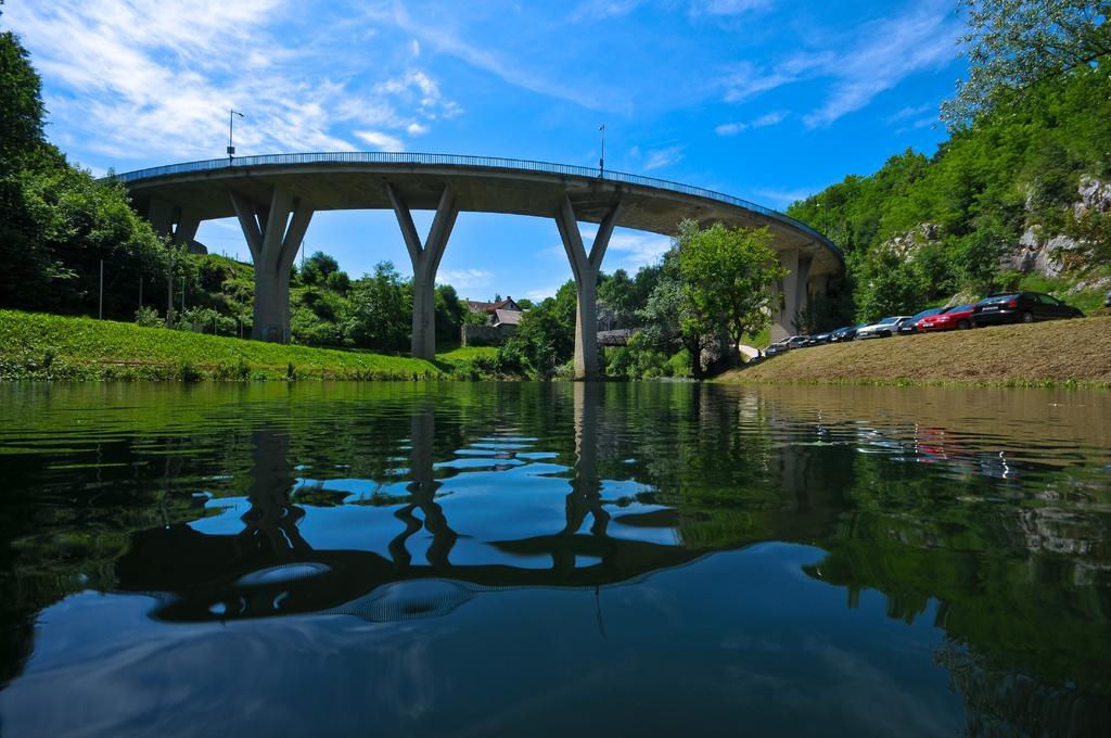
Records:
[[[559,210],[556,212],[556,226],[559,228],[563,249],[571,262],[574,275],[577,309],[574,315],[574,378],[595,379],[598,377],[598,272],[602,267],[605,247],[613,235],[621,201],[618,200],[598,226],[594,242],[587,253],[582,245],[582,232],[579,221],[574,218],[571,199],[564,195]]]

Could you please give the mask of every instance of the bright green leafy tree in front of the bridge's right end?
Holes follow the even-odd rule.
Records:
[[[679,273],[690,306],[683,322],[690,330],[724,330],[735,351],[745,335],[770,323],[773,288],[788,271],[767,228],[700,229],[687,221],[679,229]]]

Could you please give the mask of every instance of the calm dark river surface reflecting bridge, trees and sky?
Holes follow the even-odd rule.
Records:
[[[0,734],[1111,725],[1111,393],[0,387]]]

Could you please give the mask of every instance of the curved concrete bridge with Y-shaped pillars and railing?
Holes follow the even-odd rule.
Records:
[[[575,375],[597,371],[598,272],[615,227],[674,236],[679,221],[767,226],[790,275],[773,315],[773,338],[793,332],[810,295],[841,273],[837,247],[812,228],[768,208],[664,180],[516,159],[429,153],[284,153],[212,159],[120,174],[156,230],[188,243],[201,221],[236,217],[254,261],[251,337],[289,341],[289,276],[312,213],[391,209],[413,270],[412,355],[436,355],[434,286],[456,218],[500,212],[556,221],[578,288]],[[423,241],[411,210],[434,210]],[[598,223],[589,245],[580,222]]]

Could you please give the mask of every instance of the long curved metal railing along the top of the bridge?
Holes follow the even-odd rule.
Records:
[[[682,184],[665,179],[654,177],[642,177],[641,174],[629,174],[620,171],[599,171],[588,167],[575,164],[557,164],[548,161],[532,161],[530,159],[503,159],[501,157],[472,157],[454,153],[416,153],[416,152],[387,152],[387,151],[327,151],[316,153],[268,153],[257,157],[240,157],[238,159],[207,159],[203,161],[188,161],[179,164],[167,164],[164,167],[152,167],[150,169],[139,169],[136,171],[116,174],[123,182],[134,182],[142,179],[166,177],[169,174],[183,174],[190,172],[220,171],[224,169],[246,169],[250,167],[267,166],[289,166],[289,164],[311,164],[311,163],[383,163],[383,164],[444,164],[450,167],[476,167],[483,169],[513,169],[519,171],[537,171],[548,174],[569,174],[572,177],[587,177],[602,179],[611,182],[624,182],[627,184],[638,184],[641,187],[653,187],[661,190],[670,190],[682,195],[705,198],[724,202],[759,212],[773,218],[780,222],[798,228],[801,231],[822,241],[834,253],[840,255],[839,249],[824,236],[810,226],[795,220],[789,216],[765,208],[762,205],[734,198],[731,195],[715,192],[701,187]]]

